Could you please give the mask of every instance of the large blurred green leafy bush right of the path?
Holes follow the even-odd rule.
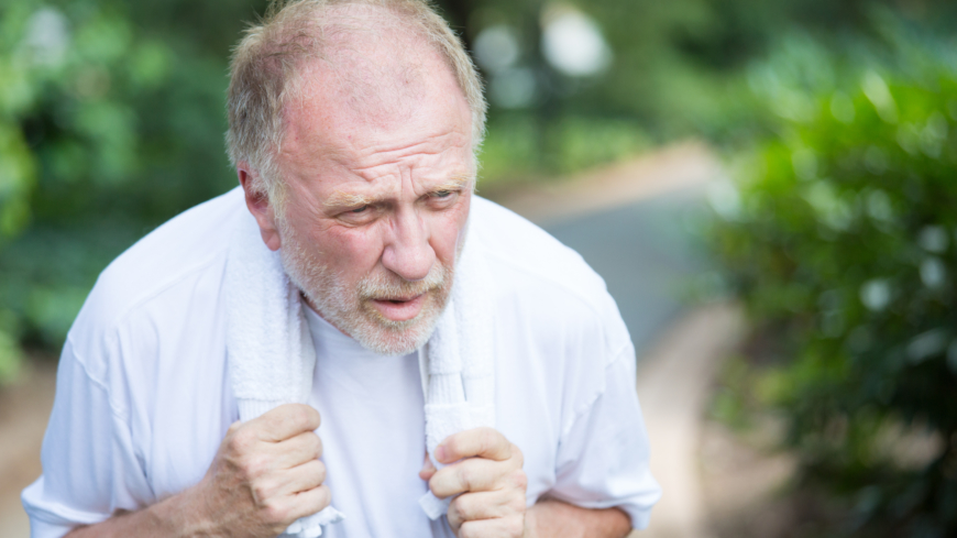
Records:
[[[957,55],[878,30],[840,55],[789,39],[751,69],[778,122],[713,193],[713,244],[776,342],[760,392],[804,477],[858,501],[847,534],[954,536]],[[893,431],[932,450],[904,464]]]

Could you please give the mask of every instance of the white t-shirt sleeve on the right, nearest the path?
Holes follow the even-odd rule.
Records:
[[[605,366],[605,389],[562,432],[549,495],[584,508],[620,508],[634,528],[645,528],[661,496],[648,455],[629,345]]]

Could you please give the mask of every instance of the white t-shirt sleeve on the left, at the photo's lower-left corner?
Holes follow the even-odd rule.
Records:
[[[43,474],[21,496],[32,538],[64,536],[117,510],[138,509],[152,496],[128,417],[69,340],[56,383],[41,452]]]

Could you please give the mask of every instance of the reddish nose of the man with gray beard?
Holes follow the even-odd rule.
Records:
[[[392,220],[392,233],[382,253],[382,264],[406,281],[425,278],[436,262],[426,222],[415,209],[408,208],[396,211]]]

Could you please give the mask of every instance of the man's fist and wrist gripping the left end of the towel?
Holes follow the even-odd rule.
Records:
[[[319,413],[287,404],[230,426],[202,481],[190,490],[215,535],[274,537],[329,506]]]

